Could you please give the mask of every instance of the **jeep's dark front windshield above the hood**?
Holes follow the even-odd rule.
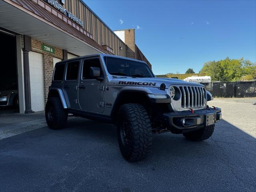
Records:
[[[128,59],[104,57],[108,72],[112,75],[130,77],[154,77],[147,64]]]

